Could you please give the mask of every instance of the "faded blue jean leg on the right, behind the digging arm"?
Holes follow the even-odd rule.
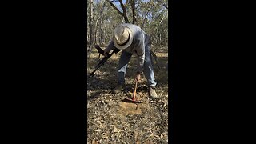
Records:
[[[147,86],[157,85],[157,82],[155,82],[155,79],[154,79],[154,69],[151,63],[150,46],[148,42],[146,42],[146,46],[145,46],[144,74],[147,79]]]

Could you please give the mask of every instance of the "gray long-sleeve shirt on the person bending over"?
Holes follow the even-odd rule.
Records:
[[[124,23],[121,25],[129,27],[134,35],[133,42],[129,47],[124,50],[130,54],[137,54],[138,72],[142,72],[145,60],[145,48],[146,46],[149,46],[148,42],[150,42],[149,36],[139,26],[129,23]],[[106,51],[114,50],[114,48],[115,46],[112,40],[110,44],[106,47]]]

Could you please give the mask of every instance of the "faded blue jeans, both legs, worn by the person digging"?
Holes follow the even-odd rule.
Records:
[[[144,61],[144,69],[143,72],[146,77],[146,84],[147,86],[156,86],[157,82],[155,82],[154,79],[154,70],[151,63],[151,57],[150,57],[150,47],[145,46],[145,61]],[[122,50],[121,57],[119,59],[118,64],[118,83],[125,84],[125,76],[126,76],[126,68],[128,65],[128,62],[130,61],[132,54],[126,52],[125,50]]]

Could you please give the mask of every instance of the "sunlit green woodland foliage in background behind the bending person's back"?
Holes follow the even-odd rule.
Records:
[[[161,0],[168,6],[167,0]],[[90,2],[90,1],[89,1]],[[89,2],[87,1],[87,15],[89,16],[90,8]],[[122,13],[122,7],[118,1],[110,1],[118,8]],[[122,1],[126,7],[126,15],[129,19],[129,22],[133,21],[132,7],[130,5],[131,0]],[[141,26],[147,34],[150,35],[152,45],[155,47],[166,46],[168,43],[168,9],[162,5],[158,0],[134,0],[135,2],[135,17],[137,19],[137,25]],[[124,23],[124,18],[121,14],[118,14],[117,10],[114,10],[113,6],[110,6],[109,2],[106,0],[94,0],[93,1],[93,18],[91,25],[93,29],[96,28],[96,22],[98,24],[94,35],[96,34],[95,42],[99,38],[98,33],[102,32],[103,34],[103,43],[106,45],[110,42],[112,38],[112,33],[115,26],[118,26],[120,23]],[[102,13],[101,13],[102,10]],[[97,19],[101,19],[98,20]],[[87,23],[87,34],[89,32],[89,22]],[[101,30],[102,31],[101,31]],[[96,32],[96,33],[95,33]]]

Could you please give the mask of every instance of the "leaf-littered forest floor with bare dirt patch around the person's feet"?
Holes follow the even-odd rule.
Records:
[[[148,98],[146,79],[138,83],[136,97],[142,103],[122,102],[134,91],[134,72],[137,58],[133,54],[126,71],[126,90],[112,94],[117,84],[118,59],[122,51],[113,54],[87,80],[87,143],[168,143],[168,50],[166,47],[153,50],[158,56],[154,75],[158,85],[158,99]],[[102,57],[101,57],[102,58]],[[97,50],[93,49],[87,60],[87,73],[98,64]]]

